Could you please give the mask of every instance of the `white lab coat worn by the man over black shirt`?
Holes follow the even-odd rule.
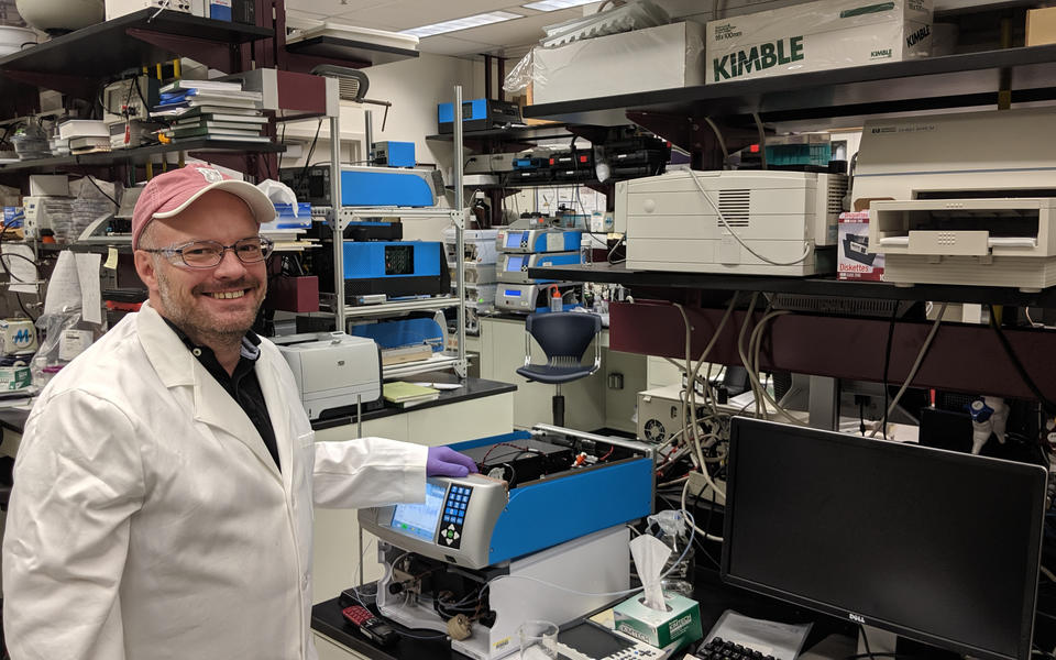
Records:
[[[34,406],[3,539],[13,660],[311,660],[312,499],[425,499],[425,447],[314,442],[285,360],[257,378],[282,472],[150,306]],[[356,561],[349,552],[349,566]]]

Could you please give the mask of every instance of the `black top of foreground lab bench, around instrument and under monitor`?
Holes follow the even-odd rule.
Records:
[[[701,607],[701,629],[705,636],[724,612],[733,609],[745,616],[785,624],[813,624],[811,634],[804,645],[807,651],[800,656],[801,660],[825,657],[843,660],[843,658],[855,653],[854,636],[857,635],[855,625],[724,584],[714,571],[697,570],[693,597]],[[367,605],[373,608],[369,601]],[[399,624],[387,623],[398,630],[407,631],[407,628]],[[311,628],[320,660],[352,660],[359,658],[371,660],[465,660],[468,658],[468,656],[451,650],[450,641],[446,638],[439,640],[402,638],[392,647],[382,649],[354,631],[351,624],[344,622],[339,598],[319,603],[311,608]],[[411,634],[439,635],[439,632],[422,630],[415,630]],[[818,646],[823,640],[826,651],[812,653],[810,649]],[[821,648],[818,651],[821,651]],[[682,652],[675,653],[673,658],[680,658],[682,654]],[[515,660],[517,657],[517,653],[514,653],[509,656],[509,659]]]

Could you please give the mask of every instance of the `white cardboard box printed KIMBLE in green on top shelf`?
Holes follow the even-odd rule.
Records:
[[[926,57],[932,0],[821,0],[708,21],[707,82]]]

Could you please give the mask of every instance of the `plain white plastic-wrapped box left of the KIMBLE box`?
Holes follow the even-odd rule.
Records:
[[[532,103],[704,84],[704,26],[686,21],[532,52]]]

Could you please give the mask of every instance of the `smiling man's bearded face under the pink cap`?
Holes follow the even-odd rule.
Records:
[[[189,241],[231,245],[257,235],[249,207],[229,193],[210,190],[184,212],[154,220],[143,248],[167,248]],[[174,263],[175,262],[175,263]],[[267,288],[266,262],[243,264],[232,251],[212,268],[188,268],[178,257],[135,253],[135,267],[151,294],[151,305],[194,341],[232,341],[253,326]]]

